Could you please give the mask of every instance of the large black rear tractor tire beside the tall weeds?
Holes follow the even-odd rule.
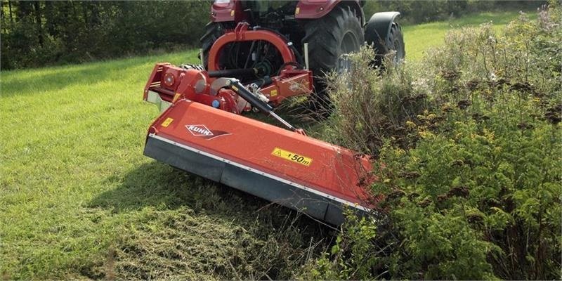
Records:
[[[314,75],[313,104],[326,107],[325,73],[344,71],[341,55],[359,51],[365,41],[360,17],[349,6],[336,6],[324,17],[306,22],[304,29],[302,43],[308,43],[308,65]]]

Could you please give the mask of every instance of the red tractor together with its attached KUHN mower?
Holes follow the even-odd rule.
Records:
[[[404,57],[398,12],[365,23],[362,1],[216,0],[202,37],[202,65],[158,63],[144,100],[162,112],[144,154],[192,174],[339,225],[343,210],[373,204],[371,159],[306,136],[275,114],[285,98],[325,97],[318,76],[348,67],[362,44]],[[315,76],[316,75],[316,76]],[[285,127],[243,117],[263,112]]]

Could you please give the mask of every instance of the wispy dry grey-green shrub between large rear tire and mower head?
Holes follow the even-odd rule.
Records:
[[[355,65],[348,74],[328,77],[336,112],[331,119],[333,126],[327,126],[324,135],[347,148],[377,155],[384,139],[403,136],[405,131],[400,124],[415,117],[423,107],[418,103],[404,103],[412,98],[414,70],[391,68],[381,76],[379,70],[369,66],[373,57],[372,50],[364,48],[351,55]],[[412,100],[425,98],[420,95]],[[398,141],[407,143],[403,138]]]

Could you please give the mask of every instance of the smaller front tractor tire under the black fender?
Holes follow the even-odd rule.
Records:
[[[374,67],[381,67],[384,57],[391,52],[395,52],[393,56],[393,63],[401,63],[405,56],[406,51],[404,47],[404,36],[402,33],[402,27],[396,22],[392,22],[391,31],[388,34],[388,46],[384,39],[379,39],[379,36],[374,32],[374,28],[370,27],[371,22],[368,22],[365,26],[365,41],[367,44],[373,44],[375,49],[375,58],[373,61]]]

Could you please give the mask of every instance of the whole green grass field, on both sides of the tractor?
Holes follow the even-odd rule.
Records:
[[[514,16],[407,26],[407,55],[421,58],[450,25]],[[158,112],[141,96],[159,61],[195,63],[196,52],[1,72],[0,278],[287,278],[325,236],[143,157]]]

